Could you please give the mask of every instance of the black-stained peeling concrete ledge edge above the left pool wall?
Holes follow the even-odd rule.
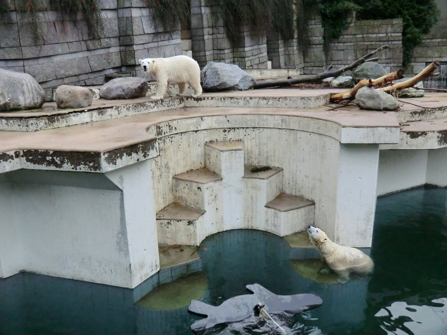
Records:
[[[18,169],[104,173],[157,155],[156,138],[106,152],[15,150],[0,153],[0,173]]]

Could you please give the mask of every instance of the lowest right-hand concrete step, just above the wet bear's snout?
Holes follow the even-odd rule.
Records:
[[[281,193],[265,208],[265,224],[279,236],[305,230],[313,224],[315,203],[308,199]]]

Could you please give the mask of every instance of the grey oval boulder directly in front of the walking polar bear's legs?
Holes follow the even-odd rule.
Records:
[[[143,78],[116,78],[106,82],[99,89],[99,96],[107,100],[134,99],[144,97],[148,92],[148,81]]]

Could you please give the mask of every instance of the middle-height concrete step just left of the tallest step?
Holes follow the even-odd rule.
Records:
[[[172,178],[174,201],[206,209],[220,193],[222,177],[207,168],[193,170]]]

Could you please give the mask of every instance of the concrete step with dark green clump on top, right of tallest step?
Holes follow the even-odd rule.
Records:
[[[262,172],[251,172],[260,166],[244,166],[244,222],[253,229],[265,229],[265,204],[275,199],[283,190],[283,169],[270,167]],[[272,231],[270,229],[269,231]]]

